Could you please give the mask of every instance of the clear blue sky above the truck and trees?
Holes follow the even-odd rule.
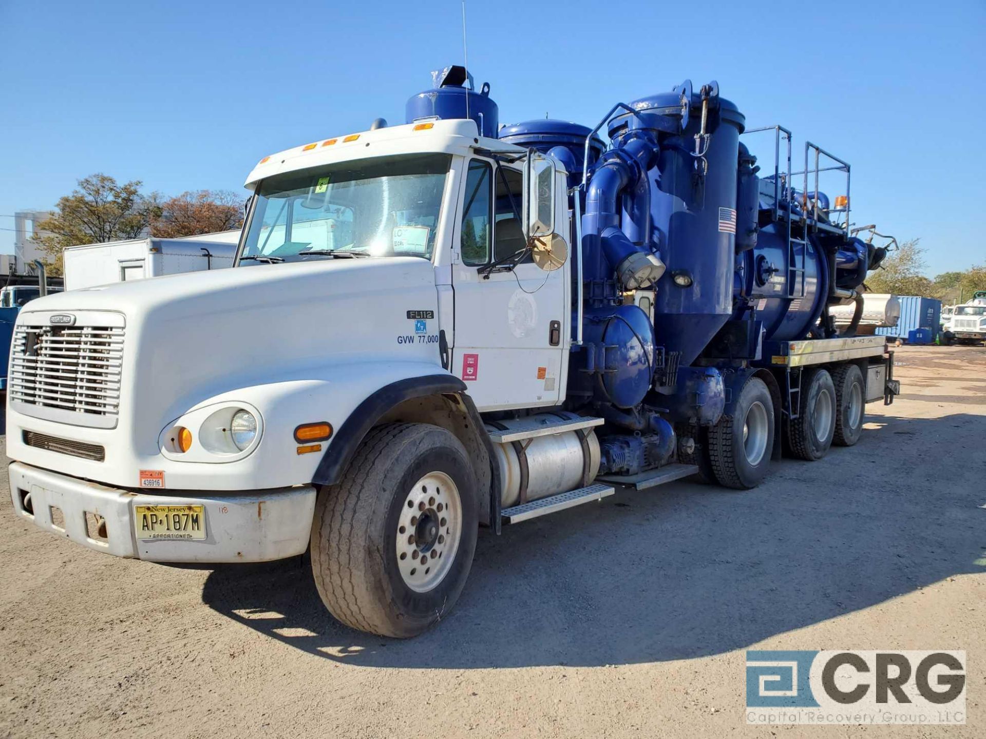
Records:
[[[750,127],[794,130],[796,160],[809,138],[852,163],[854,220],[920,237],[929,274],[986,262],[982,0],[466,7],[469,68],[502,123],[594,125],[616,101],[716,79]],[[267,154],[403,122],[429,71],[461,62],[460,14],[458,0],[0,0],[0,252],[7,216],[93,172],[240,190]],[[749,143],[771,167],[767,138]]]

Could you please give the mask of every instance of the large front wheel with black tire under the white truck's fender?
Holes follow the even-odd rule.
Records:
[[[472,565],[476,489],[465,449],[445,429],[374,429],[316,504],[312,571],[329,612],[395,638],[439,621]]]

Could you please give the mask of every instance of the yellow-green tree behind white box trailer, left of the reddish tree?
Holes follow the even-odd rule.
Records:
[[[71,195],[58,200],[55,214],[37,224],[35,240],[47,254],[51,274],[62,273],[62,249],[82,243],[137,238],[157,209],[157,195],[143,195],[140,180],[118,184],[107,174],[79,180]]]

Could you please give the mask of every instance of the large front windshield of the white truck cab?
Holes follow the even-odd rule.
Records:
[[[340,162],[268,177],[256,193],[245,264],[349,256],[431,259],[448,154]]]

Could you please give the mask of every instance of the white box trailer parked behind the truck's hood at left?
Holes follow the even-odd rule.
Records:
[[[232,267],[239,240],[240,232],[231,231],[69,246],[64,251],[65,289]]]

